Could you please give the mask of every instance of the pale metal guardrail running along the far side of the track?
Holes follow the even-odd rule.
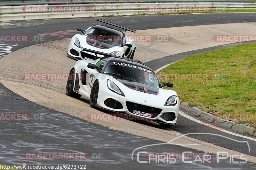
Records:
[[[256,9],[256,2],[156,2],[152,3],[90,3],[81,4],[82,0],[73,0],[72,4],[65,0],[41,0],[39,5],[0,6],[0,21],[83,18],[120,15],[139,15],[156,13],[179,13],[194,10],[196,13],[225,10]],[[104,0],[105,1],[105,0]],[[128,0],[127,0],[128,1]],[[256,1],[256,0],[255,0]],[[3,0],[0,0],[0,3]],[[7,1],[5,1],[7,2]],[[10,0],[8,2],[16,2]],[[24,1],[24,3],[32,1]],[[34,1],[33,1],[34,2]],[[42,2],[42,3],[41,3]],[[45,4],[44,2],[48,2]],[[50,4],[52,2],[52,4]],[[60,3],[61,4],[57,4]],[[71,2],[66,0],[67,2]],[[76,2],[76,3],[75,3]],[[80,4],[78,4],[80,2]],[[89,2],[89,1],[83,1]],[[92,1],[90,1],[92,2]],[[97,1],[99,2],[99,1]],[[122,1],[118,1],[122,2]],[[130,2],[130,1],[129,1]],[[56,3],[56,4],[54,4]]]

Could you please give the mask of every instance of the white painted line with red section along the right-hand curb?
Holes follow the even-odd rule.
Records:
[[[241,137],[241,138],[245,138],[245,139],[249,139],[249,140],[256,141],[255,138],[251,138],[251,137],[249,137],[249,136],[239,135],[239,134],[236,134],[236,133],[227,131],[227,130],[225,130],[225,129],[222,129],[222,128],[220,128],[220,127],[214,126],[214,125],[212,125],[212,124],[208,124],[208,123],[202,122],[201,120],[198,120],[198,119],[196,119],[196,118],[194,118],[194,117],[191,117],[191,116],[187,115],[186,113],[184,113],[184,112],[182,112],[182,111],[180,111],[180,110],[179,110],[179,115],[180,115],[180,116],[183,116],[183,117],[186,117],[187,119],[192,120],[192,121],[194,121],[194,122],[196,122],[196,123],[203,124],[203,125],[205,125],[205,126],[208,126],[208,127],[213,128],[213,129],[216,129],[216,130],[219,130],[219,131],[228,133],[228,134],[230,134],[230,135],[234,135],[234,136],[238,136],[238,137]]]

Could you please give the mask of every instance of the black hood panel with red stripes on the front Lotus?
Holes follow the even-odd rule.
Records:
[[[144,92],[152,95],[157,95],[159,93],[159,89],[157,87],[148,86],[146,84],[142,84],[135,81],[127,81],[127,80],[121,80],[121,79],[116,79],[116,80],[124,84],[126,87],[136,91],[140,91],[140,92]]]

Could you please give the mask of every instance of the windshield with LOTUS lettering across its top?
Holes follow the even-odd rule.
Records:
[[[159,81],[153,71],[132,65],[131,63],[109,62],[103,74],[109,74],[118,79],[159,87]]]

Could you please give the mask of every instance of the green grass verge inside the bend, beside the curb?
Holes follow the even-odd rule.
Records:
[[[194,55],[165,68],[160,79],[173,82],[183,102],[256,127],[255,52],[256,43],[251,43]],[[189,80],[190,74],[205,76]]]

